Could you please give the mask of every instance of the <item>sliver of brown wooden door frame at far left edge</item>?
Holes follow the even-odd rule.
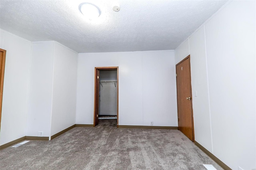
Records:
[[[2,64],[0,65],[1,75],[0,75],[0,129],[1,129],[1,117],[2,117],[2,102],[3,102],[3,90],[4,90],[4,68],[5,68],[5,59],[6,59],[6,50],[1,49],[0,51],[3,53],[1,57]]]

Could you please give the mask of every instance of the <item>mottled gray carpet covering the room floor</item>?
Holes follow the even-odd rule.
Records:
[[[222,168],[179,130],[75,127],[50,141],[0,151],[1,170],[206,170]]]

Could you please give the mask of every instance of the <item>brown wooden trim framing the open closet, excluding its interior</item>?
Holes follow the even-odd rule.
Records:
[[[118,87],[119,87],[119,81],[118,81],[118,67],[95,67],[94,71],[94,121],[93,121],[93,127],[97,125],[97,111],[98,111],[98,71],[99,70],[116,70],[117,71],[117,120],[116,120],[116,126],[118,127]]]

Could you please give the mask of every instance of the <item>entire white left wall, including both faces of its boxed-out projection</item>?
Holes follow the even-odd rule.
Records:
[[[74,125],[78,53],[58,42],[31,43],[0,33],[0,47],[7,51],[0,145]]]

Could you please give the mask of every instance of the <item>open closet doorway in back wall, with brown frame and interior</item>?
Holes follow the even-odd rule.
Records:
[[[94,127],[118,127],[118,67],[95,67]]]

